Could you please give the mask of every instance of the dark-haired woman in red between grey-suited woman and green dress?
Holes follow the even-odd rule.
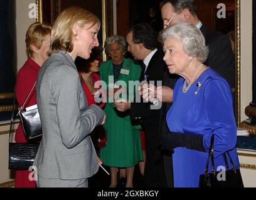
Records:
[[[82,86],[87,98],[88,106],[91,104],[97,104],[100,108],[103,108],[106,103],[104,92],[100,84],[99,64],[102,61],[100,54],[96,49],[92,49],[90,58],[87,60],[78,57],[75,60],[78,74],[82,77]],[[90,134],[97,154],[99,149],[105,146],[107,140],[103,126],[97,126]]]

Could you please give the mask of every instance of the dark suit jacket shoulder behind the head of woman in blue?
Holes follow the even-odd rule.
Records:
[[[205,64],[225,78],[233,88],[235,86],[235,59],[230,40],[225,34],[208,29],[205,25],[201,26],[200,30],[210,50]]]

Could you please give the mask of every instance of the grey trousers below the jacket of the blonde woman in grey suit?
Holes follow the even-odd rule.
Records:
[[[62,180],[62,179],[45,179],[38,176],[36,181],[37,187],[88,187],[88,179]]]

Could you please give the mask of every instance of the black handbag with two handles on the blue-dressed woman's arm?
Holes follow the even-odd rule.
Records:
[[[205,173],[200,175],[199,187],[243,187],[243,180],[240,173],[240,169],[235,169],[233,161],[228,151],[226,152],[230,159],[232,169],[228,170],[228,161],[226,153],[223,154],[225,161],[226,171],[215,171],[214,159],[213,159],[213,143],[214,136],[211,136],[210,150],[208,159],[206,162]],[[208,173],[209,160],[211,159],[211,173]],[[221,174],[219,174],[221,173]],[[219,176],[218,176],[219,175]],[[222,175],[225,175],[225,180],[221,180]]]

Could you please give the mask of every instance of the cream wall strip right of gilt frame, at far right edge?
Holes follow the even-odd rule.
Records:
[[[241,121],[252,101],[252,0],[241,0]]]

